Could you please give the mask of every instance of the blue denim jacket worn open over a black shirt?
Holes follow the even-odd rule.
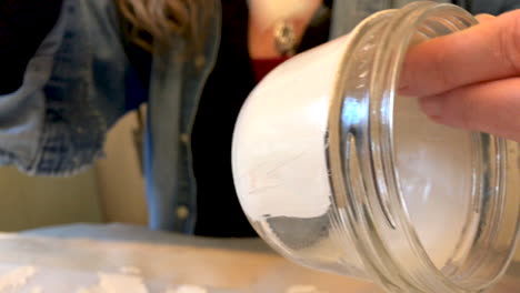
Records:
[[[350,31],[388,3],[411,0],[337,0],[331,36]],[[130,69],[113,0],[64,0],[56,28],[26,70],[23,85],[0,97],[0,163],[30,174],[67,175],[101,156],[106,133],[124,114]],[[203,29],[203,50],[186,57],[188,40],[172,38],[156,55],[144,145],[152,229],[192,233],[197,184],[190,137],[197,105],[217,58],[220,2]],[[473,11],[498,13],[507,1],[474,0]],[[512,3],[518,6],[518,3]],[[486,6],[488,6],[486,8]],[[201,24],[202,26],[202,24]],[[181,209],[182,213],[176,212]]]

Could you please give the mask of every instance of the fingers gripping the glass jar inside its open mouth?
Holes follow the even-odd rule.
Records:
[[[420,43],[407,54],[400,92],[434,121],[520,142],[520,10]]]

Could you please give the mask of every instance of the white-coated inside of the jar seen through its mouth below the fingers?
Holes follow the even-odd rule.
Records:
[[[471,134],[431,121],[416,98],[398,97],[393,140],[411,223],[433,263],[442,267],[464,232],[471,209]]]

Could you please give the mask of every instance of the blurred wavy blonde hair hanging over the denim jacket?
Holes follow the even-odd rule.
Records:
[[[172,36],[191,39],[197,49],[203,38],[203,20],[217,0],[116,0],[130,42],[148,51],[164,50]]]

